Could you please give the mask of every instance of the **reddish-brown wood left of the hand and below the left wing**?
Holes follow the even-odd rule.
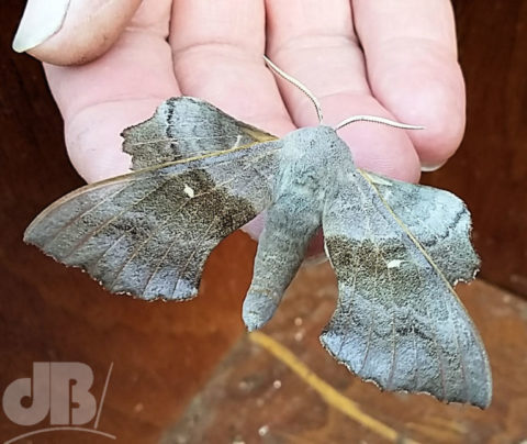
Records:
[[[0,395],[30,377],[33,362],[79,360],[93,369],[100,399],[113,362],[99,429],[119,442],[155,443],[243,332],[239,308],[255,243],[236,233],[216,248],[202,295],[181,304],[113,297],[23,244],[38,211],[82,181],[67,159],[40,64],[10,49],[22,9],[23,2],[0,2]],[[11,423],[0,408],[0,442],[34,429]],[[67,432],[33,442],[109,440]]]

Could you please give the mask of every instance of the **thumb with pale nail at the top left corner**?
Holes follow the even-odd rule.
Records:
[[[54,65],[79,65],[106,52],[141,0],[27,0],[13,49]]]

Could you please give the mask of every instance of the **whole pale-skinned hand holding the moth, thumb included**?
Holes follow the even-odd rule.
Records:
[[[313,91],[326,124],[372,114],[426,127],[340,130],[362,168],[417,181],[464,131],[448,0],[78,0],[29,53],[64,65],[46,63],[46,76],[71,162],[89,182],[128,171],[119,134],[169,97],[202,98],[278,136],[317,124],[264,53]]]

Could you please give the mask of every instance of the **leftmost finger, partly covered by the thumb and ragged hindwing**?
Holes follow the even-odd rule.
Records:
[[[45,66],[64,116],[68,154],[87,181],[126,173],[122,130],[179,96],[166,41],[170,5],[170,0],[144,1],[115,45],[90,64]]]

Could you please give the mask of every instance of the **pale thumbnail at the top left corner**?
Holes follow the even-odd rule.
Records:
[[[70,0],[29,0],[13,40],[13,49],[24,53],[63,27]]]

